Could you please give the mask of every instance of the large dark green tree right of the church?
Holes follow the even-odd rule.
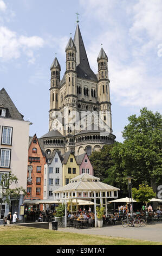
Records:
[[[123,143],[116,143],[111,150],[112,172],[115,181],[126,190],[127,176],[133,176],[133,185],[147,182],[154,188],[162,180],[162,118],[147,108],[140,110],[139,117],[128,117],[122,136]]]

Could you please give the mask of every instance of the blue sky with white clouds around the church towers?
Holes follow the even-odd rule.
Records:
[[[101,44],[108,56],[113,133],[122,141],[127,117],[142,107],[161,113],[161,0],[0,0],[0,77],[30,136],[48,132],[50,65],[65,71],[65,47],[76,14],[90,67]]]

